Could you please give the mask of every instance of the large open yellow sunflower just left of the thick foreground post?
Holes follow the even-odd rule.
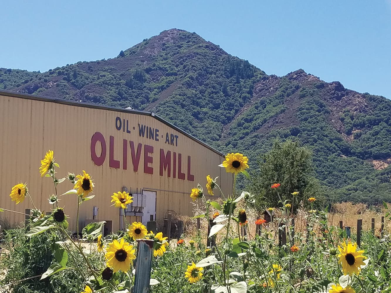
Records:
[[[136,259],[136,250],[133,249],[133,245],[125,242],[124,238],[121,239],[121,242],[113,240],[108,244],[106,250],[104,256],[106,257],[107,266],[113,268],[114,273],[118,270],[126,273],[133,264],[133,259]]]

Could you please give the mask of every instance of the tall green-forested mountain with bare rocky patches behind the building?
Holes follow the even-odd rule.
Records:
[[[296,70],[267,75],[194,32],[170,29],[112,59],[44,73],[0,68],[0,89],[154,112],[222,152],[273,139],[314,154],[329,197],[391,201],[391,101]]]

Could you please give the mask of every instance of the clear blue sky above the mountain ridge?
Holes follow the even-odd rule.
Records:
[[[391,98],[391,0],[0,0],[0,67],[47,71],[196,32],[267,74],[303,68]]]

